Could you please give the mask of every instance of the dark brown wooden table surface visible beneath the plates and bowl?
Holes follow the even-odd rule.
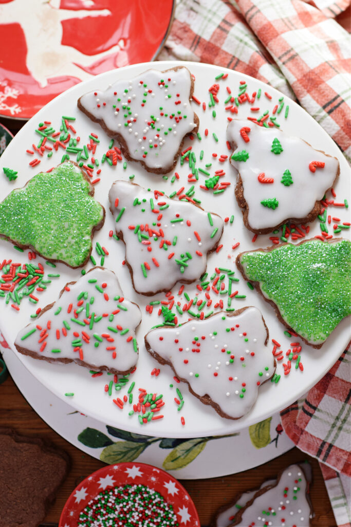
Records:
[[[339,15],[337,20],[347,31],[350,31],[350,8],[345,13]],[[14,121],[11,119],[1,119],[1,122],[14,134],[24,124],[23,121]],[[0,385],[0,415],[0,423],[2,426],[15,428],[21,434],[43,437],[54,443],[57,447],[63,448],[71,457],[71,470],[63,485],[58,490],[56,501],[51,506],[42,524],[43,527],[44,525],[45,527],[57,526],[59,516],[68,496],[86,476],[100,469],[105,463],[83,453],[54,432],[34,412],[11,377],[8,377]],[[313,527],[336,527],[333,509],[330,505],[319,464],[314,458],[299,451],[298,448],[293,448],[289,452],[255,469],[238,474],[205,480],[179,481],[192,497],[198,511],[201,525],[205,527],[209,525],[210,520],[219,506],[230,503],[239,493],[255,489],[266,479],[275,477],[280,470],[289,464],[302,462],[304,460],[310,462],[313,470],[313,484],[310,489],[310,496],[315,516],[311,525]]]

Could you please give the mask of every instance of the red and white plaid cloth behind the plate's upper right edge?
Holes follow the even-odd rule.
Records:
[[[351,161],[349,0],[180,0],[159,58],[207,62],[297,99]]]

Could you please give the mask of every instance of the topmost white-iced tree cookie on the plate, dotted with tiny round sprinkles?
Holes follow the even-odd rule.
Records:
[[[175,166],[185,136],[198,129],[190,104],[193,91],[193,77],[184,66],[148,70],[86,93],[78,108],[117,139],[127,159],[164,174]]]

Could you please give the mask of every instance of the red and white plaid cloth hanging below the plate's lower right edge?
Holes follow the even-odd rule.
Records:
[[[351,352],[307,395],[280,412],[286,434],[319,461],[336,523],[351,524]]]

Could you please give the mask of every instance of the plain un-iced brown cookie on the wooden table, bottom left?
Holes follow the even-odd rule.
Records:
[[[36,527],[69,470],[63,450],[0,427],[0,527]]]

